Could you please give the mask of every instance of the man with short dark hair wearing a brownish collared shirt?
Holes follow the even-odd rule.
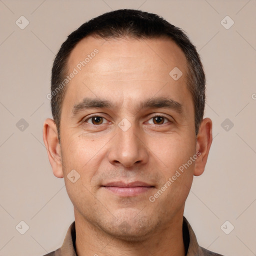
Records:
[[[195,47],[158,15],[116,10],[73,31],[52,67],[43,140],[74,206],[47,255],[219,255],[183,217],[212,141]]]

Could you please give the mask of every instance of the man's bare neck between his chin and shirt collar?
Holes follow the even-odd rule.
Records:
[[[164,227],[148,234],[147,237],[127,241],[102,231],[84,219],[77,210],[75,215],[75,250],[77,256],[184,256],[182,236],[183,211],[175,215]]]

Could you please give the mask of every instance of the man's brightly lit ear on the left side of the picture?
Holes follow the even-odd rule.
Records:
[[[60,143],[54,120],[47,118],[43,123],[43,142],[46,147],[53,174],[63,177]]]

